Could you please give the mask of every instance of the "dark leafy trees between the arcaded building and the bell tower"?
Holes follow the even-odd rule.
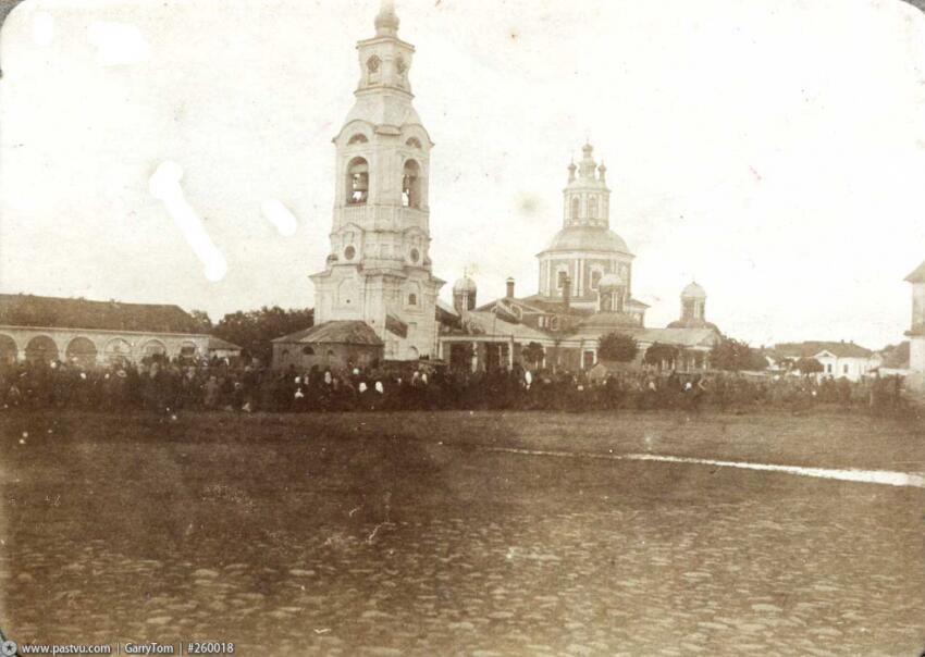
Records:
[[[270,362],[272,340],[289,333],[309,328],[314,323],[310,308],[284,310],[279,306],[260,310],[232,312],[215,324],[213,335],[240,345],[248,355]]]

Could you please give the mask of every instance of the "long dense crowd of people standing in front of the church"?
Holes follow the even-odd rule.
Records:
[[[348,410],[617,410],[708,407],[743,412],[816,406],[896,410],[901,379],[804,377],[729,372],[620,371],[589,379],[584,372],[510,370],[469,372],[421,363],[414,369],[373,367],[343,371],[259,363],[169,361],[85,367],[76,362],[18,362],[0,367],[0,408],[149,409],[225,411]]]

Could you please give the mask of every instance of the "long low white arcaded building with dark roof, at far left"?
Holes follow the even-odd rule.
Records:
[[[86,367],[209,356],[209,335],[178,306],[0,295],[0,362]]]

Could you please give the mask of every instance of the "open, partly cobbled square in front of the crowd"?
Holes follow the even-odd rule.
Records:
[[[917,655],[925,471],[837,413],[0,416],[0,628],[243,655]]]

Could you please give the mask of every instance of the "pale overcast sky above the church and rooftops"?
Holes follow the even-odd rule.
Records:
[[[900,0],[398,0],[431,257],[536,290],[608,168],[646,325],[879,348],[925,260],[925,14]],[[310,307],[378,0],[26,0],[0,33],[0,292]],[[155,176],[157,172],[157,176]],[[152,177],[155,178],[152,181]],[[169,206],[192,213],[178,223]],[[198,218],[198,219],[197,219]],[[208,262],[209,264],[203,264]]]

